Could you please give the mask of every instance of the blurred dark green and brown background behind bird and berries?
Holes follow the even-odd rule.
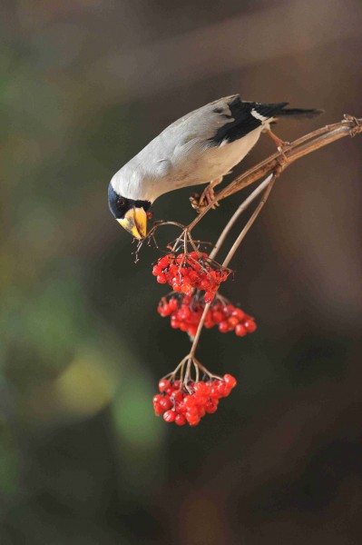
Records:
[[[153,416],[190,344],[107,186],[223,95],[326,110],[285,140],[362,116],[361,2],[5,0],[0,28],[2,545],[360,542],[361,137],[279,179],[223,290],[258,330],[201,336],[239,387],[193,429]],[[235,173],[272,152],[261,137]],[[189,194],[155,219],[188,223]]]

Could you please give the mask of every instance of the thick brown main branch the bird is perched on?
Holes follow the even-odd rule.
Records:
[[[209,212],[215,203],[229,197],[233,193],[237,193],[250,183],[258,182],[264,176],[278,171],[282,173],[289,164],[294,163],[300,157],[311,154],[325,145],[332,144],[345,136],[356,136],[362,133],[362,119],[357,119],[352,115],[344,115],[344,119],[335,124],[321,127],[313,133],[306,134],[291,144],[288,144],[278,153],[270,155],[261,163],[253,166],[246,173],[241,174],[235,180],[230,182],[219,193],[215,193],[215,198],[206,207],[198,207],[197,203],[193,203],[193,207],[201,211],[201,213],[189,225],[189,231],[200,222],[201,218]],[[191,201],[192,203],[192,201]]]

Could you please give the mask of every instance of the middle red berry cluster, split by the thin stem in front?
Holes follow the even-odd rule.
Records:
[[[191,337],[196,335],[205,308],[204,299],[196,296],[177,295],[167,299],[162,297],[157,312],[164,316],[171,316],[171,327],[188,332]],[[234,331],[239,337],[255,332],[257,325],[254,319],[241,309],[234,307],[230,302],[216,299],[212,302],[206,314],[205,327],[218,325],[221,333]]]

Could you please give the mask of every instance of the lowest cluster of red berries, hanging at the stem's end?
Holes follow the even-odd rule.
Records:
[[[217,411],[220,398],[228,397],[236,383],[233,376],[226,374],[223,379],[190,382],[187,391],[181,388],[180,381],[162,379],[160,393],[153,397],[153,408],[157,416],[163,414],[166,422],[197,426],[205,414]]]

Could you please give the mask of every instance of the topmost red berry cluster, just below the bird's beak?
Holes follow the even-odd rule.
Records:
[[[205,292],[205,302],[211,302],[220,283],[225,282],[230,271],[210,261],[207,253],[168,253],[152,269],[157,282],[169,283],[175,292],[191,295],[194,288]]]

